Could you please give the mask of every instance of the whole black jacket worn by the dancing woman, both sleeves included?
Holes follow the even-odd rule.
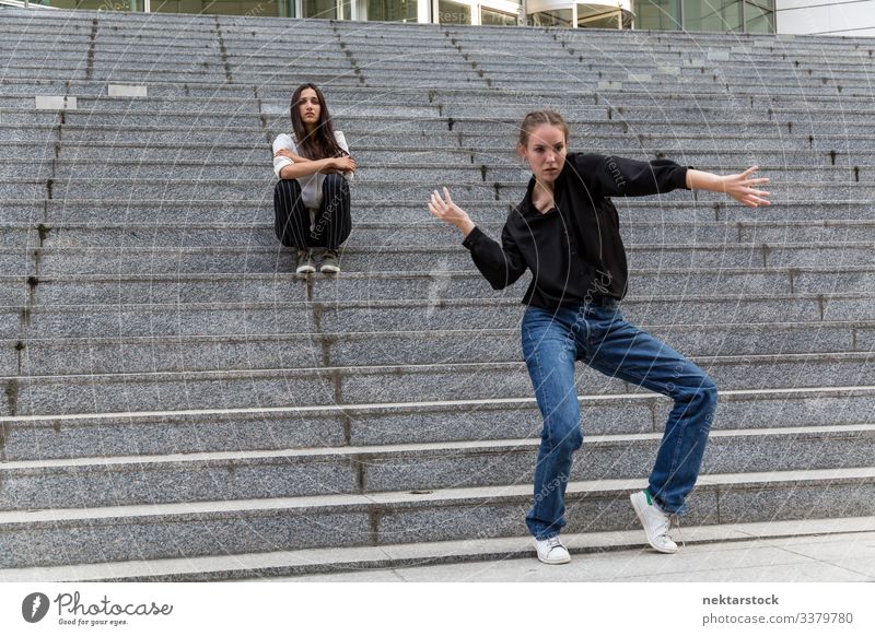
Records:
[[[463,245],[495,290],[530,269],[526,305],[553,309],[598,296],[619,299],[626,295],[628,268],[619,216],[609,197],[669,192],[686,188],[686,178],[687,168],[668,160],[571,153],[556,180],[556,208],[541,214],[533,205],[533,176],[525,198],[508,215],[501,245],[478,227]]]

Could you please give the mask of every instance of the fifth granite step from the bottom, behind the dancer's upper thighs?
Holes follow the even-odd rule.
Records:
[[[518,310],[517,310],[518,315]],[[151,315],[154,316],[154,315]],[[509,321],[509,320],[504,320]],[[215,326],[217,330],[225,327]],[[0,340],[0,374],[54,376],[200,370],[258,370],[312,366],[452,364],[456,361],[517,360],[520,332],[510,329],[294,333],[313,325],[273,332],[240,333],[225,327],[217,337],[149,335],[105,338],[77,334],[65,340],[26,337]],[[641,323],[686,355],[761,355],[875,351],[875,321],[803,323]],[[88,338],[83,338],[88,335]]]

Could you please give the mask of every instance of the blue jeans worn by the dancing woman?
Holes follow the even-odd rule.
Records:
[[[583,444],[575,361],[675,401],[648,490],[667,513],[682,513],[699,475],[716,409],[718,389],[711,378],[667,344],[627,322],[614,301],[556,310],[528,307],[522,340],[544,417],[535,502],[526,516],[532,534],[547,539],[565,525],[571,456]]]

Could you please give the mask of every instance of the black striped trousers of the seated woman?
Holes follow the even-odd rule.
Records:
[[[349,184],[342,175],[326,175],[322,205],[311,225],[310,210],[301,200],[298,179],[280,179],[273,190],[273,229],[285,247],[337,249],[352,232]]]

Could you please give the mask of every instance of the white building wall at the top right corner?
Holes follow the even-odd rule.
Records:
[[[875,0],[775,0],[778,33],[875,37]]]

